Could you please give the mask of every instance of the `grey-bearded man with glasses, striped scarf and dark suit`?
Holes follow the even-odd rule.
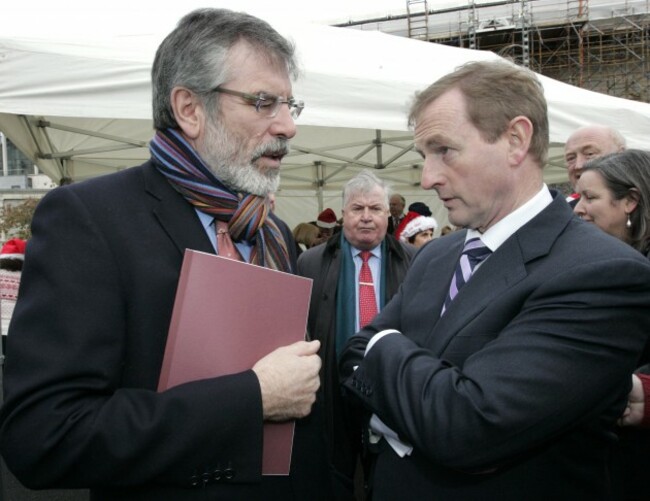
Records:
[[[27,486],[121,501],[330,498],[311,412],[318,342],[156,391],[185,249],[295,270],[291,234],[268,203],[302,108],[295,70],[293,46],[266,22],[188,14],[153,65],[152,159],[43,199],[0,429]],[[263,421],[303,417],[291,474],[262,477]]]

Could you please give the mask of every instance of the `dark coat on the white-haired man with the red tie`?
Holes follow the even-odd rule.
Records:
[[[384,303],[392,298],[406,276],[415,247],[403,245],[386,235],[386,288]],[[341,408],[338,362],[336,358],[336,295],[341,270],[341,236],[303,252],[298,259],[298,274],[314,280],[307,331],[321,342],[322,394],[324,396],[328,451],[339,474],[351,480],[356,466],[355,451],[360,431],[351,430]],[[352,435],[352,436],[351,436]]]

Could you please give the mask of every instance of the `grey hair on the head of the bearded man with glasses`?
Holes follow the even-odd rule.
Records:
[[[293,43],[266,21],[228,9],[194,10],[156,51],[151,69],[154,128],[178,128],[170,101],[174,87],[195,92],[206,107],[216,106],[218,97],[210,90],[230,78],[234,68],[228,56],[240,40],[265,54],[271,64],[286,67],[291,78],[298,77]]]

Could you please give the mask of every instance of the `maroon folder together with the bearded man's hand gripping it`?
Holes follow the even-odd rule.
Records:
[[[293,420],[311,412],[320,384],[320,343],[304,341],[311,285],[297,275],[185,251],[158,390],[252,369],[264,420],[264,475],[289,474]]]

